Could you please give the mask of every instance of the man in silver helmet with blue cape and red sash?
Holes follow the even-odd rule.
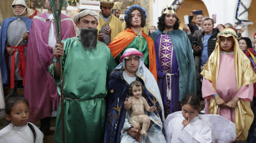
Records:
[[[15,16],[6,18],[0,29],[0,69],[3,84],[11,89],[9,96],[16,94],[18,84],[24,85],[28,43],[26,32],[30,31],[32,23],[25,15],[27,5],[24,0],[14,0],[12,9]]]

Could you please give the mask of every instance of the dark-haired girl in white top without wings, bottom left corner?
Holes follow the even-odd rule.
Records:
[[[28,101],[23,97],[9,98],[5,118],[11,123],[0,130],[1,143],[42,143],[43,133],[28,122]]]

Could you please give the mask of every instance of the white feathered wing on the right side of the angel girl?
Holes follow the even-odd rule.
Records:
[[[214,114],[199,114],[198,117],[210,126],[213,141],[230,143],[236,140],[236,125],[230,120]]]

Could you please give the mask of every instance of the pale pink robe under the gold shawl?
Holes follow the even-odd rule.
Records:
[[[205,99],[205,114],[209,113],[210,99],[212,95],[218,94],[227,103],[234,96],[244,101],[251,102],[253,99],[253,84],[242,86],[237,91],[236,73],[234,68],[234,54],[220,54],[219,74],[217,77],[216,90],[213,88],[211,81],[203,79],[202,95]],[[237,93],[236,93],[237,91]],[[218,114],[234,122],[235,108],[219,106]]]

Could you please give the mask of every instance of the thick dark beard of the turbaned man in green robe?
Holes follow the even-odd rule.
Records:
[[[85,49],[96,49],[98,30],[95,28],[82,28],[80,30],[80,39]]]

